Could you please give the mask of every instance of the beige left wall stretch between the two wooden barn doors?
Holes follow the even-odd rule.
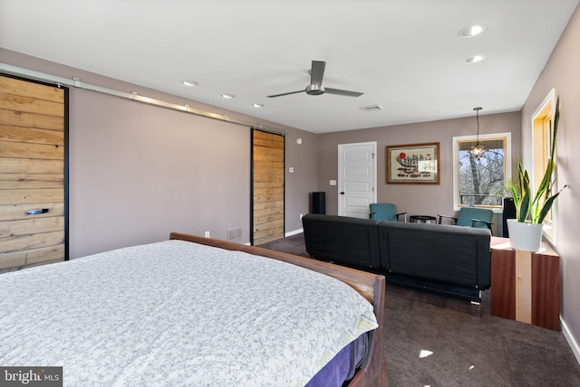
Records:
[[[79,89],[70,109],[73,258],[171,230],[226,239],[242,228],[247,241],[248,127]]]

